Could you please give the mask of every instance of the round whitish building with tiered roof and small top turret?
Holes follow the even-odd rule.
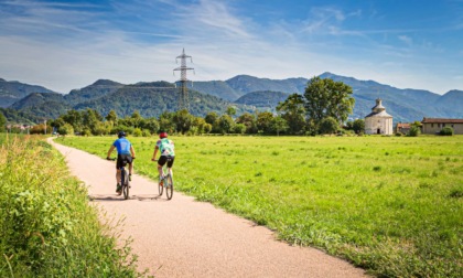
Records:
[[[386,113],[381,99],[376,99],[376,106],[365,117],[366,135],[392,135],[392,116]]]

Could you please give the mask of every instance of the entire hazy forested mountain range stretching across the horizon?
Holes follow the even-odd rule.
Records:
[[[332,73],[320,75],[343,82],[353,88],[355,107],[349,118],[364,118],[381,98],[394,121],[414,121],[423,117],[463,118],[463,90],[450,90],[439,95],[422,89],[399,89],[374,81],[358,81]],[[303,94],[306,78],[269,79],[238,75],[227,81],[195,82],[189,84],[190,113],[205,116],[209,111],[223,114],[230,105],[237,115],[245,111],[274,111],[279,101],[290,94]],[[169,82],[137,83],[131,85],[99,79],[94,84],[73,89],[69,94],[54,93],[45,87],[0,78],[0,107],[34,115],[56,118],[68,109],[93,108],[101,115],[115,109],[119,117],[139,110],[143,117],[158,117],[163,111],[177,109],[179,89]]]

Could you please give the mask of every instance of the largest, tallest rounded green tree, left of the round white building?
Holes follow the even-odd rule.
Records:
[[[345,121],[355,104],[352,93],[352,87],[342,82],[313,77],[304,93],[309,121],[313,122],[316,130],[322,119],[327,117],[333,117],[337,122]]]

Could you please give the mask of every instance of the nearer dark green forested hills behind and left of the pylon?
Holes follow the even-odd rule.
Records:
[[[97,81],[94,84],[73,89],[67,95],[57,93],[32,93],[15,101],[3,114],[9,122],[39,122],[54,119],[69,109],[91,108],[101,115],[111,109],[118,117],[126,117],[138,110],[142,117],[159,117],[164,111],[179,110],[180,89],[169,82],[137,83],[123,85],[112,81]],[[189,90],[190,113],[205,116],[207,113],[225,113],[228,106],[236,106],[238,114],[254,111],[255,107],[236,105],[212,95]]]

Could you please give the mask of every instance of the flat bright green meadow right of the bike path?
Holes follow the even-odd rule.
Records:
[[[105,158],[115,139],[56,141]],[[461,136],[171,139],[175,191],[378,277],[463,277]],[[157,139],[129,140],[155,180]]]

